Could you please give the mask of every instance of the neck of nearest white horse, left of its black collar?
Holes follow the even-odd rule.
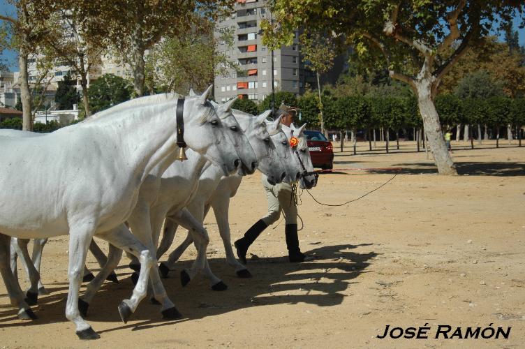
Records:
[[[177,148],[174,103],[137,107],[86,125],[112,133],[126,164],[140,181]]]

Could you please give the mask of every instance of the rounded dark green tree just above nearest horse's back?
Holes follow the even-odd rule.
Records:
[[[131,98],[132,87],[128,81],[113,75],[104,74],[89,87],[89,107],[92,112],[100,112]]]

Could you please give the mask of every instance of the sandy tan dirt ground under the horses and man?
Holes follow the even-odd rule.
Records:
[[[487,142],[485,142],[487,143]],[[337,149],[337,144],[334,144]],[[377,144],[380,147],[380,144]],[[131,295],[127,260],[120,283],[105,283],[87,320],[98,341],[77,339],[64,315],[68,238],[45,248],[42,277],[50,295],[34,307],[38,320],[17,320],[0,283],[0,347],[276,347],[276,348],[524,348],[525,347],[525,147],[502,141],[483,149],[453,142],[460,176],[442,177],[427,154],[412,142],[385,155],[337,149],[334,167],[401,167],[401,174],[365,198],[325,207],[302,194],[302,251],[311,262],[286,261],[284,225],[267,228],[251,248],[253,279],[238,279],[225,265],[213,215],[209,262],[228,285],[214,292],[202,276],[185,288],[183,260],[164,281],[184,315],[163,321],[145,299],[124,325],[117,305]],[[525,145],[525,144],[524,144]],[[337,172],[320,176],[311,193],[337,204],[358,198],[390,179],[393,172]],[[260,175],[244,179],[230,206],[232,241],[263,216],[266,200]],[[182,241],[182,230],[177,242]],[[193,248],[191,248],[193,250]],[[93,258],[89,267],[96,270]],[[20,275],[24,272],[20,271]],[[24,286],[26,281],[22,281]],[[378,339],[391,327],[431,327],[429,339]],[[434,339],[438,325],[512,327],[509,339]],[[452,335],[450,332],[450,335]],[[489,332],[487,332],[488,334]]]

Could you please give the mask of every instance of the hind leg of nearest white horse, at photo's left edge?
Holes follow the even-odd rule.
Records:
[[[0,273],[3,282],[6,284],[11,304],[18,307],[18,318],[20,320],[34,320],[36,315],[25,302],[24,292],[22,292],[18,279],[15,279],[13,271],[10,269],[10,244],[11,238],[0,234]]]

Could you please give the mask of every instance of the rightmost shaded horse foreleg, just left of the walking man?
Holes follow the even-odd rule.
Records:
[[[228,220],[230,196],[225,197],[225,195],[221,195],[221,198],[215,198],[212,202],[212,207],[214,209],[217,226],[219,227],[219,234],[223,240],[228,265],[235,268],[235,274],[237,274],[239,278],[251,278],[251,274],[248,269],[246,269],[246,266],[242,265],[233,253],[232,242],[230,240],[230,221]]]

